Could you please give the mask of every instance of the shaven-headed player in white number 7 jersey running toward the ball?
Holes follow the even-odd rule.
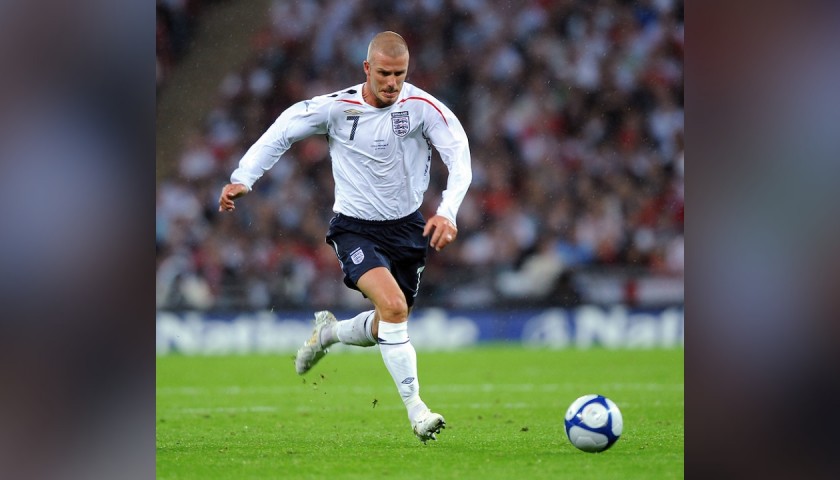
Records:
[[[455,217],[472,180],[470,151],[461,123],[444,104],[405,82],[408,46],[394,32],[371,40],[363,62],[365,83],[298,102],[248,149],[219,198],[219,211],[251,190],[294,142],[327,135],[335,178],[335,216],[326,241],[335,248],[344,283],[373,303],[373,310],[338,321],[315,314],[311,338],[297,352],[303,375],[341,342],[379,344],[414,434],[423,443],[445,428],[442,415],[420,398],[417,354],[408,316],[420,286],[428,246],[455,240]],[[429,185],[434,147],[449,171],[435,215],[419,212]]]

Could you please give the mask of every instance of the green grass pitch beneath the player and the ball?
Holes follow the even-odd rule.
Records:
[[[303,377],[292,355],[158,357],[157,478],[683,478],[683,353],[418,352],[423,400],[447,422],[427,445],[375,347],[333,351]],[[565,435],[566,408],[587,393],[624,416],[603,453]]]

